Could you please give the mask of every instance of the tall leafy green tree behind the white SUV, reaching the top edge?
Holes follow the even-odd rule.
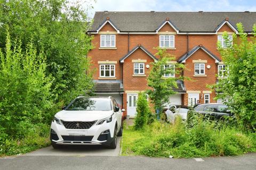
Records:
[[[56,102],[69,102],[93,87],[86,57],[92,45],[86,35],[90,24],[85,5],[67,0],[0,0],[0,47],[5,48],[8,27],[11,37],[21,40],[22,50],[28,43],[37,53],[43,50]]]

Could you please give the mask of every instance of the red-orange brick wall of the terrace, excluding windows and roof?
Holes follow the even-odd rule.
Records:
[[[115,31],[113,27],[109,23],[107,23],[100,31]],[[170,31],[174,32],[173,28],[169,24],[164,25],[164,27],[160,31]],[[219,32],[228,31],[232,32],[227,24],[223,25],[223,27],[219,30]],[[202,44],[205,48],[210,50],[211,53],[218,56],[221,59],[221,56],[217,50],[217,38],[218,35],[189,35],[188,36],[188,45],[189,50],[193,47]],[[94,45],[94,49],[89,52],[89,56],[92,58],[92,68],[96,68],[97,71],[94,73],[93,78],[98,80],[99,78],[99,64],[98,61],[117,61],[116,64],[116,78],[117,80],[122,80],[122,64],[119,63],[120,58],[122,58],[125,54],[127,54],[128,50],[132,50],[138,44],[141,44],[145,47],[150,53],[155,54],[157,52],[154,47],[159,46],[159,35],[131,35],[130,34],[130,49],[128,49],[128,35],[116,34],[116,48],[117,49],[99,49],[100,45],[100,35],[94,35],[92,40]],[[175,48],[176,49],[168,49],[167,53],[175,55],[178,59],[183,54],[187,53],[187,35],[175,35]],[[132,77],[133,75],[133,63],[132,59],[137,60],[146,59],[147,63],[153,62],[153,60],[141,49],[134,52],[128,58],[126,58],[124,62],[124,89],[125,90],[145,90],[147,88],[147,77]],[[193,77],[194,75],[194,63],[192,60],[207,60],[206,65],[211,65],[211,69],[206,69],[205,72],[207,77]],[[185,87],[187,90],[210,90],[206,88],[207,84],[213,84],[216,82],[215,74],[217,74],[217,64],[215,61],[202,50],[198,50],[195,54],[190,56],[190,58],[186,61],[186,67],[190,71],[184,71],[184,75],[191,77],[195,81],[185,81]],[[150,69],[145,68],[146,75],[148,75]],[[214,93],[210,94],[210,102],[215,102],[213,100]],[[201,99],[201,95],[200,95]],[[187,105],[188,103],[188,95],[182,95],[182,103]],[[203,99],[201,100],[203,103]],[[124,108],[126,109],[126,94],[124,94]]]

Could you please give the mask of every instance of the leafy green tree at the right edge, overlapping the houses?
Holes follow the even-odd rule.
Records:
[[[238,36],[233,35],[233,44],[227,32],[223,36],[227,48],[220,48],[223,62],[228,66],[228,77],[221,79],[214,88],[218,98],[235,114],[245,128],[256,130],[256,24],[249,40],[243,25],[237,24]]]

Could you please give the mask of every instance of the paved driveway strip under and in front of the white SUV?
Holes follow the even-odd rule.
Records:
[[[116,149],[108,149],[102,146],[65,146],[61,149],[53,149],[52,146],[35,150],[25,156],[118,156],[120,153],[121,137],[117,138]],[[1,168],[0,168],[1,169]]]

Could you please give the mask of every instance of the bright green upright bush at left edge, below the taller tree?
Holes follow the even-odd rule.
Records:
[[[52,77],[45,75],[44,53],[37,53],[29,43],[26,51],[20,42],[11,43],[7,34],[6,49],[0,52],[0,143],[22,139],[35,124],[52,117]]]

